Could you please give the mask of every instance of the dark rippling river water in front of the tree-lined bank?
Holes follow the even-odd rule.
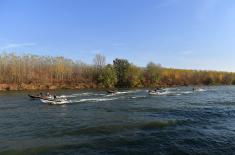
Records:
[[[235,87],[60,90],[64,105],[0,92],[0,154],[233,154]]]

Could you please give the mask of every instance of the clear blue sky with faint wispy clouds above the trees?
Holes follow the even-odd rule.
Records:
[[[235,71],[235,1],[0,0],[0,52]]]

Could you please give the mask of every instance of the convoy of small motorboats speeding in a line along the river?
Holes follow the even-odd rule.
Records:
[[[191,92],[194,91],[203,91],[201,88],[192,88]],[[117,90],[107,90],[106,93],[108,94],[107,96],[113,96],[117,94],[123,94],[125,92],[119,92]],[[169,95],[169,92],[167,89],[162,89],[162,88],[156,88],[154,90],[147,90],[148,95]],[[37,94],[37,95],[32,95],[28,94],[28,97],[32,100],[40,100],[43,103],[47,104],[65,104],[69,103],[70,101],[65,97],[65,96],[56,96],[56,95],[51,95],[49,92],[46,93],[45,95],[43,93]]]

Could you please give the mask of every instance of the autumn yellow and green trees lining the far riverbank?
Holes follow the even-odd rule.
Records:
[[[138,67],[119,58],[106,64],[101,54],[95,56],[92,64],[64,57],[0,54],[0,91],[232,84],[232,72],[172,69],[153,62]]]

